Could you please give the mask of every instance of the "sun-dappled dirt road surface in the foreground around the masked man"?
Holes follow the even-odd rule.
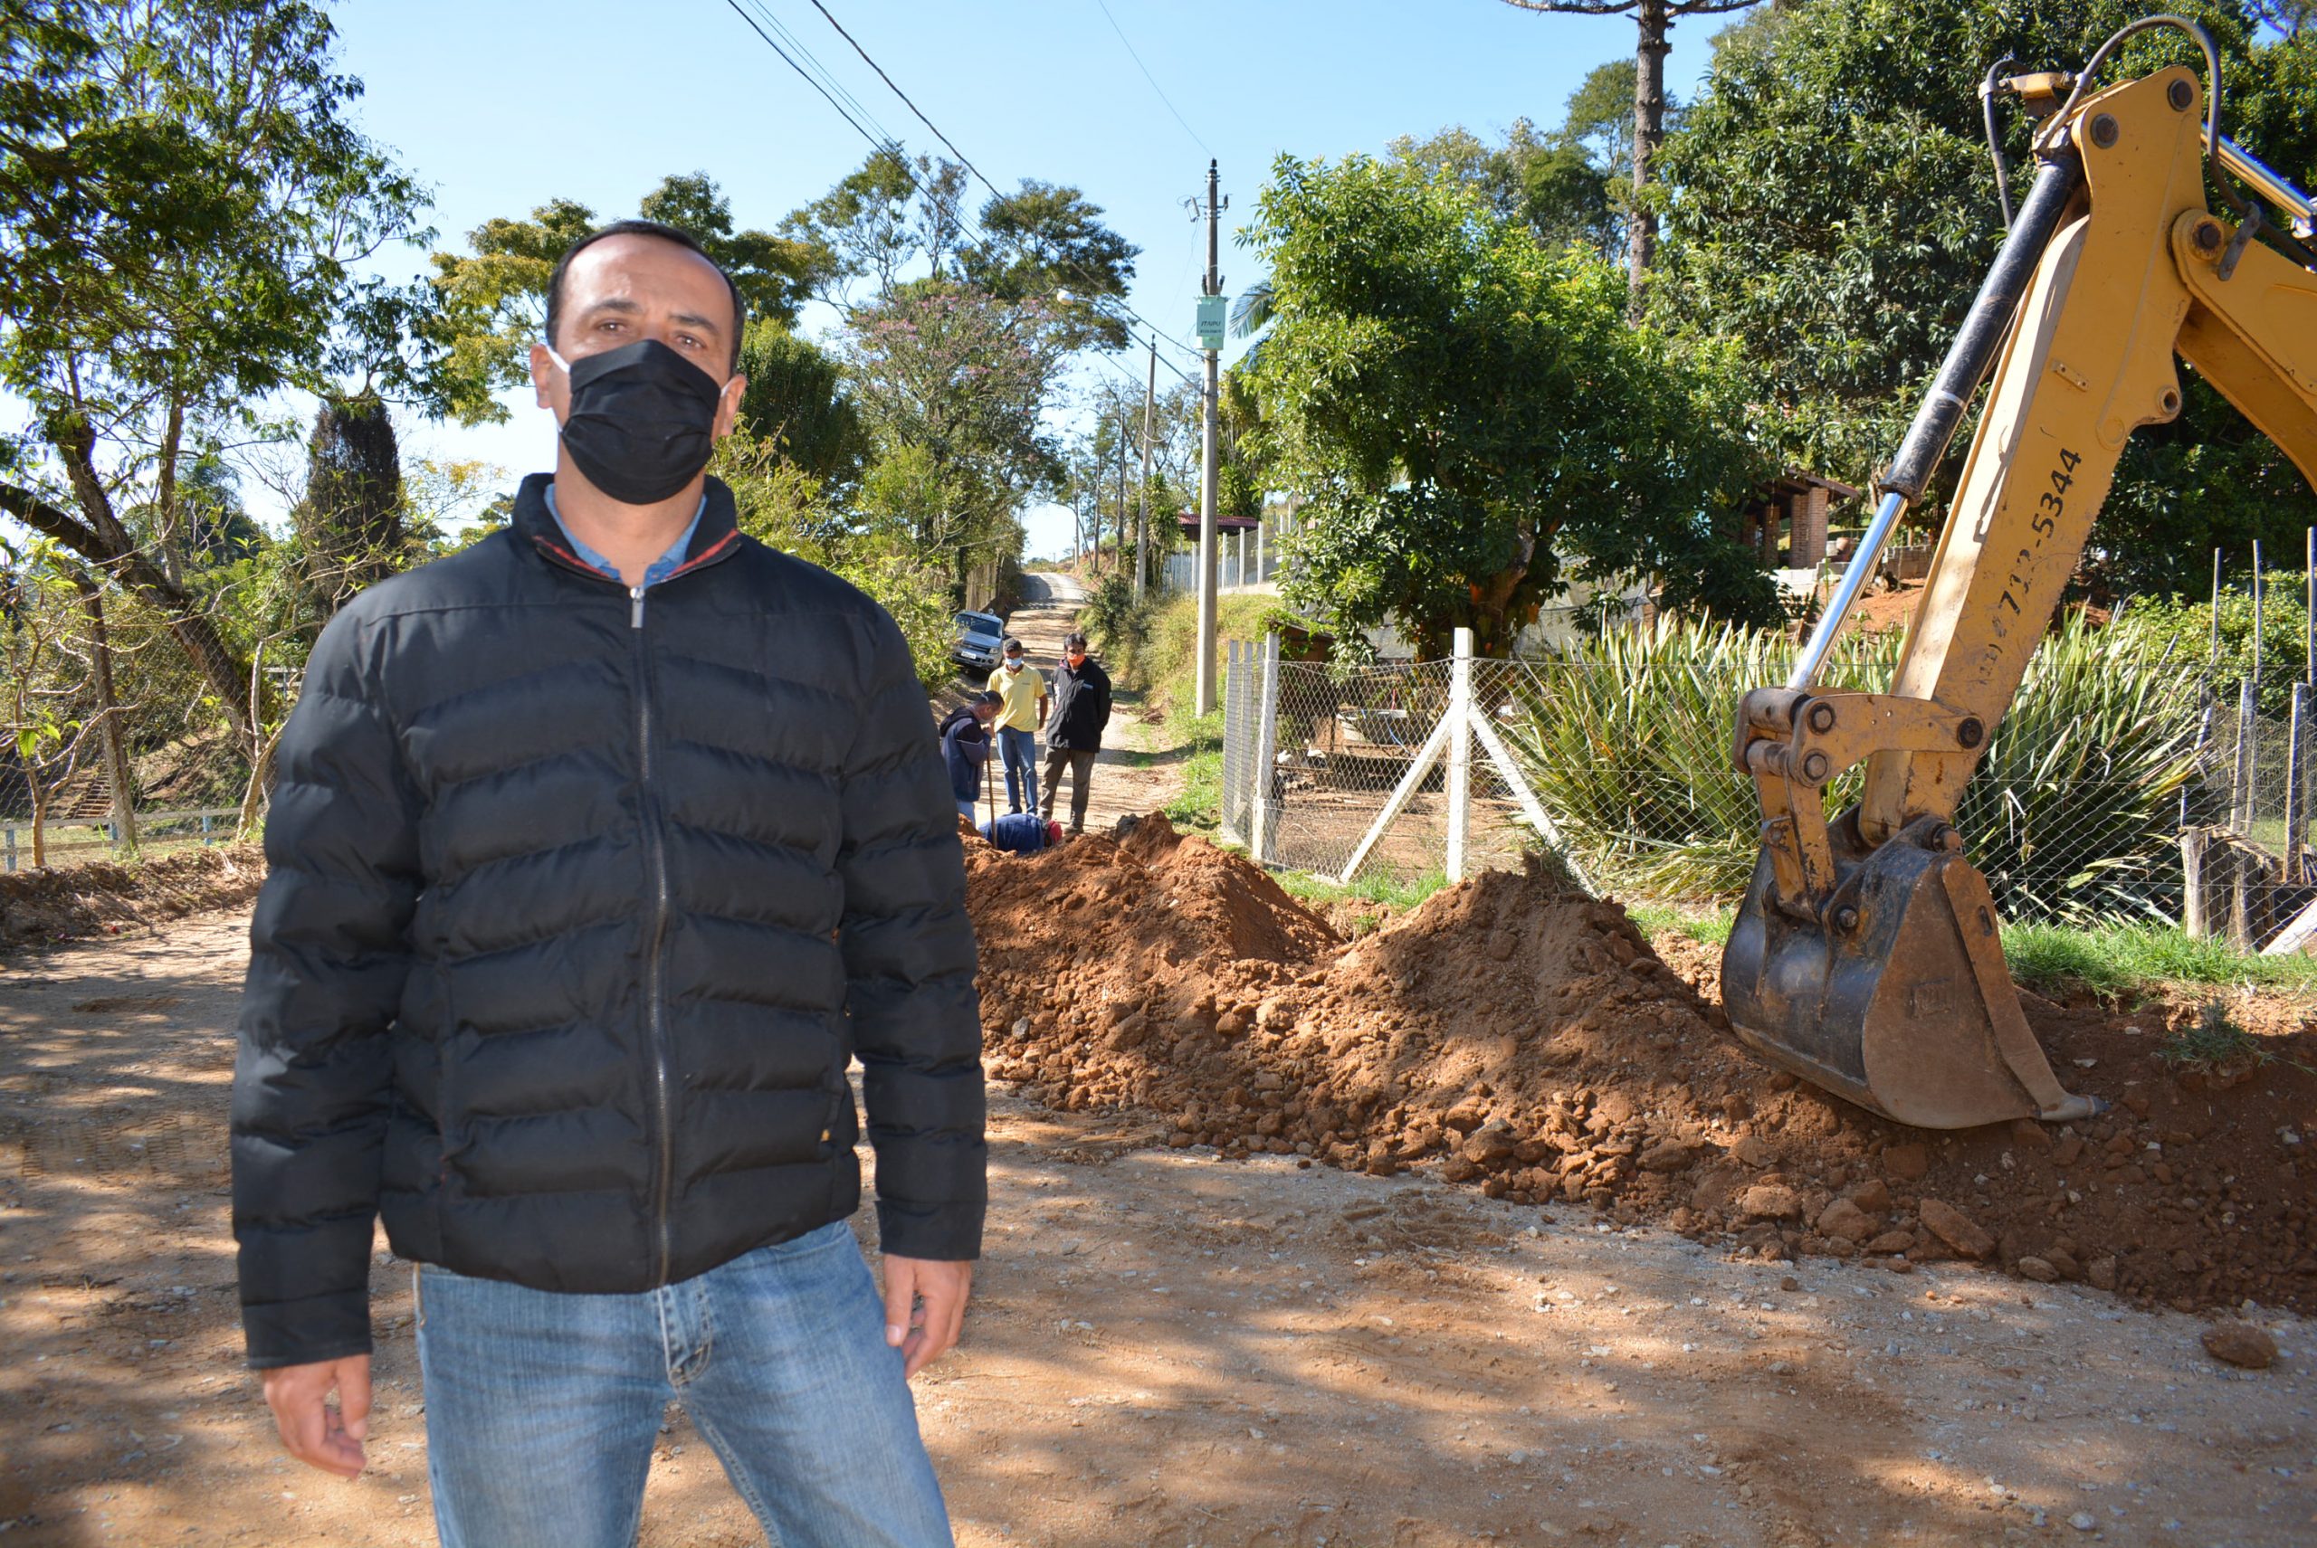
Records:
[[[239,1365],[241,962],[209,918],[0,971],[9,1541],[431,1541],[403,1265],[361,1481],[283,1460]],[[2247,1374],[2097,1291],[1740,1265],[1003,1087],[992,1136],[966,1346],[918,1390],[969,1548],[2317,1539],[2303,1323]],[[642,1541],[760,1541],[681,1416]]]

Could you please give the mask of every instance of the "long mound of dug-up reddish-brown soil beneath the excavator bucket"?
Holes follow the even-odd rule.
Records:
[[[2220,1071],[2157,1054],[2192,1003],[2030,999],[2088,1124],[1891,1124],[1726,1034],[1719,948],[1668,966],[1615,901],[1488,874],[1351,945],[1258,867],[1142,818],[1124,844],[969,846],[989,1071],[1170,1145],[1664,1221],[1761,1256],[1983,1258],[2180,1309],[2317,1309],[2317,1034],[2254,1017]],[[2243,1017],[2241,1017],[2243,1020]]]

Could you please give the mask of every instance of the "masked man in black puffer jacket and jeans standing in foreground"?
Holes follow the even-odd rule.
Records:
[[[250,1365],[294,1455],[361,1472],[382,1217],[447,1548],[633,1543],[674,1393],[772,1541],[950,1543],[906,1379],[982,1233],[957,818],[892,619],[702,475],[741,320],[681,232],[572,243],[531,350],[554,475],[345,607],[280,742],[234,1071]]]

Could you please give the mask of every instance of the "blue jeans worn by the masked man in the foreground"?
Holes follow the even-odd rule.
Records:
[[[426,1265],[419,1370],[443,1548],[633,1548],[670,1397],[781,1548],[950,1548],[843,1221],[639,1295]]]

